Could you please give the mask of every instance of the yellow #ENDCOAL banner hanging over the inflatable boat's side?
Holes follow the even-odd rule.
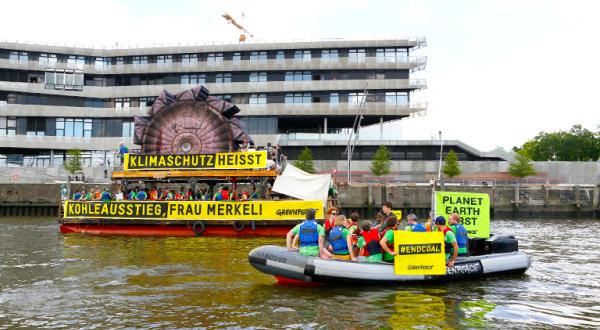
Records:
[[[394,231],[396,275],[444,275],[446,254],[441,232]]]

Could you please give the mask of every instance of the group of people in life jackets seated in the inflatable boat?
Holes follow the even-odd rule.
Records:
[[[454,266],[458,256],[468,255],[468,235],[460,223],[460,215],[449,216],[448,225],[444,216],[430,216],[425,223],[419,222],[415,214],[406,217],[407,225],[399,228],[400,220],[392,212],[390,202],[383,203],[376,221],[360,220],[360,215],[351,213],[349,218],[330,208],[321,225],[315,220],[315,210],[306,212],[306,220],[296,225],[286,236],[289,251],[323,259],[342,259],[359,262],[393,263],[394,230],[412,232],[440,231],[444,234],[448,267]]]

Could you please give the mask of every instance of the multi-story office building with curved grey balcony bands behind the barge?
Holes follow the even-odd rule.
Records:
[[[426,110],[411,101],[426,87],[411,79],[425,68],[426,58],[413,54],[423,46],[424,38],[111,50],[0,43],[0,161],[59,165],[77,148],[88,164],[102,163],[119,142],[132,145],[133,116],[163,89],[197,84],[237,104],[259,144],[279,142],[291,158],[310,145],[317,158],[345,159],[330,140],[353,127],[365,90],[363,126]],[[367,159],[377,145],[359,144],[356,157]],[[439,149],[391,147],[393,159],[433,159]],[[463,159],[481,158],[456,147]]]

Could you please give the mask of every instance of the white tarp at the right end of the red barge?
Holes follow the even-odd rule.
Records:
[[[330,184],[331,174],[306,173],[288,163],[275,179],[273,191],[303,200],[322,200],[326,206]]]

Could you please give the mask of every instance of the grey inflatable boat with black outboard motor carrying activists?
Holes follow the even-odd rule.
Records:
[[[308,257],[284,247],[266,245],[248,255],[258,271],[287,283],[407,283],[480,278],[500,274],[521,274],[531,266],[531,257],[518,251],[513,236],[492,236],[472,240],[471,256],[459,257],[446,275],[395,275],[388,263],[352,262]]]

